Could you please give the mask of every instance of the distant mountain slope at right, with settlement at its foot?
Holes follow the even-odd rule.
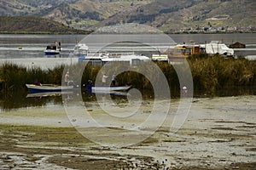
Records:
[[[254,0],[156,0],[103,20],[108,26],[137,22],[161,30],[196,29],[197,27],[256,26]],[[222,17],[225,16],[225,17]]]

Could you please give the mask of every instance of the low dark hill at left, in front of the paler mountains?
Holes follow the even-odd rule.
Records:
[[[0,16],[0,33],[85,33],[36,16]]]

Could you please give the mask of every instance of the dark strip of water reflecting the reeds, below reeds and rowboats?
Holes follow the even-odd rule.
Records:
[[[200,91],[194,91],[194,97],[223,97],[223,96],[238,96],[238,95],[256,95],[256,87],[230,87],[224,90],[217,91],[216,94],[206,95]],[[143,91],[141,92],[143,100],[153,100],[154,93]],[[47,105],[63,105],[64,102],[77,101],[78,97],[82,97],[84,105],[90,105],[91,102],[100,102],[103,99],[113,100],[113,104],[129,102],[129,93],[123,94],[87,94],[86,91],[79,96],[79,92],[74,90],[65,93],[42,93],[29,94],[26,90],[20,90],[14,93],[0,93],[0,111],[11,111],[26,107],[44,107]],[[171,92],[172,99],[179,99],[179,92]]]

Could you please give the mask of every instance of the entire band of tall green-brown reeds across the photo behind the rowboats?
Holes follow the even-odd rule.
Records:
[[[215,94],[218,90],[228,87],[256,86],[256,61],[224,58],[218,55],[208,56],[206,54],[190,56],[187,60],[193,76],[194,88],[202,94]],[[173,92],[179,92],[180,85],[173,65],[162,62],[156,64],[164,73],[172,94]],[[2,90],[26,89],[26,83],[33,83],[36,80],[46,84],[61,84],[65,66],[60,65],[54,69],[43,70],[39,67],[26,68],[25,66],[5,63],[0,65]],[[124,66],[128,69],[129,65],[110,65],[102,68],[101,66],[85,66],[82,63],[69,65],[67,70],[71,77],[78,75],[81,77],[81,82],[76,83],[86,84],[88,80],[101,82],[103,72],[107,73],[108,81],[111,81],[113,72],[119,71],[120,68],[124,69]],[[143,71],[147,72],[151,81],[159,81],[154,67],[143,63],[131,71],[119,74],[116,77],[116,82],[118,85],[131,84],[133,88],[140,90],[152,90],[152,84],[148,78],[143,76]],[[97,77],[97,75],[99,76]]]

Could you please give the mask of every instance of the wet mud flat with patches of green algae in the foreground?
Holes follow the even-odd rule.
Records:
[[[147,139],[122,148],[84,138],[61,107],[3,112],[0,169],[254,169],[255,101],[256,96],[193,99],[177,133],[170,133],[166,121]],[[109,128],[122,133],[121,127]]]

